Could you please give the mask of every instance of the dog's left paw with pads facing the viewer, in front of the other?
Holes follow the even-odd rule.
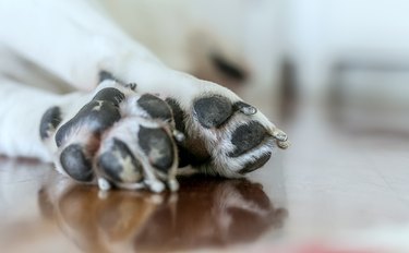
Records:
[[[173,125],[164,100],[105,81],[74,105],[46,111],[40,135],[55,141],[57,168],[77,181],[161,192],[165,183],[178,189]]]

